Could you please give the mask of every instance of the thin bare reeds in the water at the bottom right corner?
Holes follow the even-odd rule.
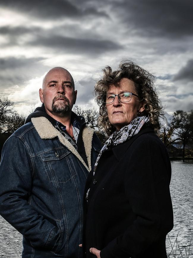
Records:
[[[178,234],[179,234],[179,232],[178,232]],[[189,255],[190,255],[190,246],[191,246],[192,238],[185,245],[179,246],[178,234],[177,234],[177,237],[175,238],[174,244],[171,243],[170,237],[167,234],[167,237],[170,241],[170,246],[171,246],[171,251],[169,253],[167,253],[167,257],[168,258],[172,258],[172,257],[174,257],[174,258],[191,258],[191,257],[189,257]]]

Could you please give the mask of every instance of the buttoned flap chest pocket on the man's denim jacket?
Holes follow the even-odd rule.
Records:
[[[76,175],[73,166],[69,166],[69,163],[72,163],[71,155],[67,148],[52,149],[40,154],[50,182],[66,183]]]

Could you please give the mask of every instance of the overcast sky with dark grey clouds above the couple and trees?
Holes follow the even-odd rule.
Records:
[[[20,114],[41,104],[46,71],[69,70],[77,105],[94,106],[102,68],[129,59],[155,76],[165,110],[193,109],[193,1],[1,0],[0,96]]]

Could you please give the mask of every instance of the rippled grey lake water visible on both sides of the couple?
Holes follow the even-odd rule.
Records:
[[[178,234],[178,245],[182,250],[184,245],[193,238],[193,162],[172,161],[171,196],[174,211],[174,228],[169,233],[172,245]],[[166,240],[167,253],[170,254],[169,238]],[[189,246],[189,243],[187,243]],[[174,246],[174,254],[180,254],[179,248]],[[176,250],[176,251],[175,251]],[[186,258],[188,248],[183,249],[179,257]],[[22,236],[0,216],[0,257],[18,258],[22,253]],[[170,257],[175,257],[170,254]],[[156,258],[156,257],[155,257]],[[193,258],[193,241],[190,247],[189,258]]]

